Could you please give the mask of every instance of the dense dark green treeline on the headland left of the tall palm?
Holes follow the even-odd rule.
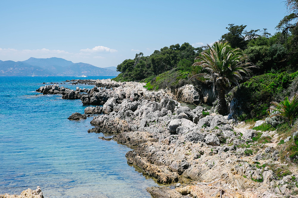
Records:
[[[115,80],[142,80],[174,68],[191,71],[194,59],[201,51],[201,47],[194,48],[189,43],[184,43],[181,46],[176,44],[155,50],[150,56],[144,56],[141,52],[136,54],[134,59],[126,59],[117,66],[117,71],[121,74]]]

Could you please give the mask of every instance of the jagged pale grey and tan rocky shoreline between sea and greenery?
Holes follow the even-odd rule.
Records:
[[[143,83],[136,82],[124,84],[107,79],[93,83],[100,86],[69,90],[46,85],[36,91],[103,105],[86,107],[86,115],[98,114],[91,121],[94,128],[88,132],[114,134],[113,140],[134,146],[126,153],[128,163],[140,167],[158,183],[172,186],[148,188],[153,197],[298,194],[297,169],[283,174],[288,164],[279,162],[280,139],[276,131],[252,130],[232,116],[216,115],[201,106],[191,110],[177,102],[199,104],[214,97],[208,91],[201,96],[193,85],[185,85],[172,94],[148,91]],[[256,142],[256,137],[267,141]],[[276,174],[276,169],[282,174]]]

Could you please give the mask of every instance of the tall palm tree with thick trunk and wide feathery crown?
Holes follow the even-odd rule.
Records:
[[[209,49],[204,50],[200,56],[196,57],[193,66],[199,65],[206,73],[197,74],[194,77],[209,78],[213,82],[213,92],[215,86],[218,91],[218,113],[226,115],[228,106],[225,94],[231,83],[238,85],[238,80],[243,79],[243,74],[249,76],[250,68],[256,67],[248,62],[248,57],[239,48],[232,49],[226,42],[215,42]]]

